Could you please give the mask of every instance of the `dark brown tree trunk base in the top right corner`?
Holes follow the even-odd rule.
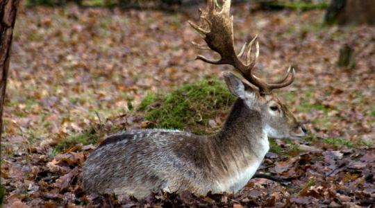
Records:
[[[332,0],[326,24],[375,24],[375,0]]]

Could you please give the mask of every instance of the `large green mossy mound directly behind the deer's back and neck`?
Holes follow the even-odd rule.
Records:
[[[139,110],[145,111],[145,119],[156,123],[157,128],[185,129],[202,135],[212,131],[208,121],[228,112],[234,101],[223,82],[200,80],[167,95],[148,94]]]

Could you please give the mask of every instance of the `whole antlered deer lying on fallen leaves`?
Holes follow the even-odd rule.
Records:
[[[209,49],[221,55],[219,60],[208,60],[201,55],[197,59],[231,64],[253,85],[233,73],[224,73],[228,89],[238,98],[222,130],[207,136],[158,129],[130,130],[109,136],[83,166],[85,189],[136,198],[160,189],[191,191],[197,195],[206,195],[208,191],[232,193],[242,189],[256,173],[269,150],[268,137],[298,139],[306,135],[306,129],[272,94],[272,89],[292,83],[294,69],[288,69],[276,83],[265,83],[254,76],[258,42],[255,39],[247,42],[236,55],[230,6],[230,0],[222,6],[217,6],[217,0],[208,0],[206,10],[201,11],[200,26],[190,23]],[[251,53],[254,42],[255,55]]]

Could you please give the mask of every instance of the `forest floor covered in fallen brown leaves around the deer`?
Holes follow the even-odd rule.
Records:
[[[190,42],[201,40],[187,21],[197,19],[195,10],[189,16],[22,6],[3,115],[4,207],[374,205],[375,28],[322,26],[324,10],[249,12],[238,6],[232,12],[238,47],[259,36],[258,76],[275,80],[290,64],[297,68],[294,83],[277,94],[313,136],[299,142],[303,150],[268,153],[258,170],[288,182],[255,178],[235,195],[156,193],[141,201],[86,193],[81,166],[96,144],[56,149],[61,141],[97,126],[111,132],[119,118],[127,129],[147,127],[142,114],[129,116],[148,92],[218,78],[231,67],[194,61],[201,51]],[[336,66],[344,44],[356,51],[354,69]]]

